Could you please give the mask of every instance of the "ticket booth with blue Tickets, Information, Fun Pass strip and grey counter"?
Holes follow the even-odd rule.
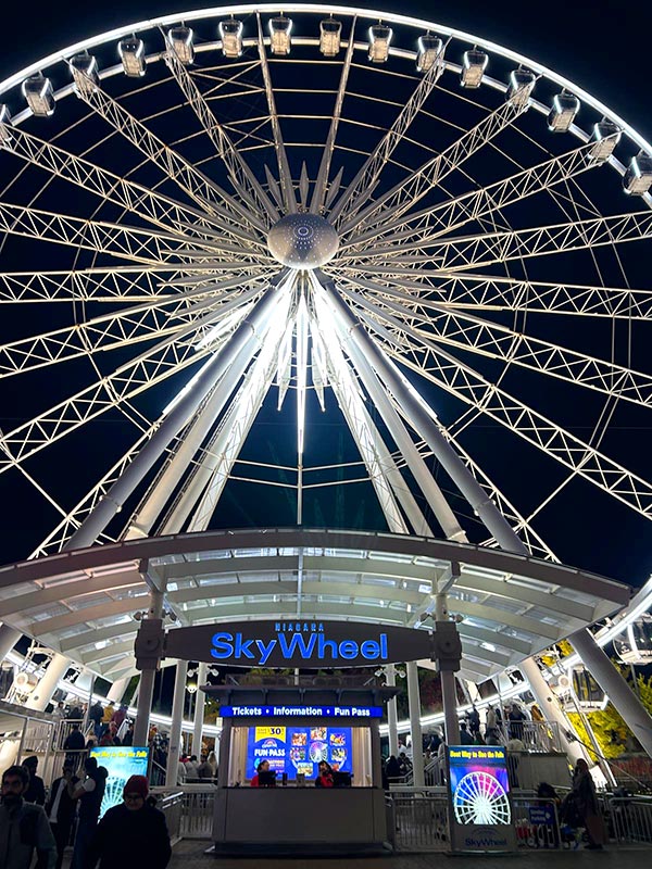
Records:
[[[205,690],[220,695],[223,716],[216,853],[385,849],[379,723],[383,702],[396,689],[349,682]],[[250,786],[261,760],[276,772],[275,786]],[[319,760],[340,773],[342,786],[315,786]]]

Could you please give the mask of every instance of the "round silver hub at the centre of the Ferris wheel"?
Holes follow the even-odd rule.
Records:
[[[269,253],[290,268],[319,268],[339,247],[334,227],[318,214],[287,214],[267,235]]]

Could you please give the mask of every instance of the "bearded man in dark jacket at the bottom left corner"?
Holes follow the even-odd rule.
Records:
[[[2,773],[0,795],[0,867],[29,869],[36,851],[35,869],[54,869],[57,845],[41,806],[26,803],[29,784],[25,767],[12,766]]]

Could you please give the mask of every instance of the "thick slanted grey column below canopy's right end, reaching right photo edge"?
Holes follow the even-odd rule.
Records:
[[[568,639],[645,753],[652,757],[652,717],[587,630],[577,631]]]

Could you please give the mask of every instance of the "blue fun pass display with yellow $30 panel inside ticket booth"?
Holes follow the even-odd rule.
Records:
[[[250,727],[247,740],[247,778],[255,773],[261,760],[288,780],[302,773],[306,779],[317,777],[319,761],[326,760],[334,770],[353,772],[351,728],[348,727]]]

